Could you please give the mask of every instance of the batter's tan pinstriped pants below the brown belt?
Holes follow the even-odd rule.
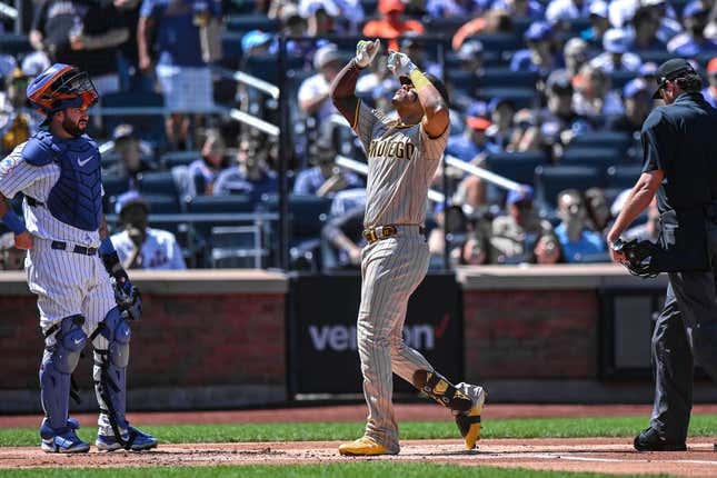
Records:
[[[366,246],[361,256],[357,335],[369,410],[366,436],[398,451],[392,372],[411,382],[417,370],[434,371],[402,336],[408,299],[428,271],[428,245],[418,226],[399,226],[396,236]]]

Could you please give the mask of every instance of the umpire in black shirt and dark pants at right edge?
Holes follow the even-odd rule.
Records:
[[[657,193],[660,256],[669,273],[665,308],[653,335],[655,405],[639,451],[685,450],[694,361],[717,381],[717,110],[703,98],[689,62],[657,70],[655,108],[643,125],[643,173],[607,236],[616,262],[620,233]],[[616,250],[617,249],[617,250]]]

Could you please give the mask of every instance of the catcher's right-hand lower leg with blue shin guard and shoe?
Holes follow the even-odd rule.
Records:
[[[127,420],[127,365],[129,364],[130,328],[112,308],[94,339],[94,391],[100,405],[97,448],[113,451],[147,450],[157,446],[151,435],[131,427]]]

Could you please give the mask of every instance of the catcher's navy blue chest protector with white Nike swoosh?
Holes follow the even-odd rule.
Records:
[[[100,152],[87,136],[59,139],[38,131],[22,150],[22,159],[33,166],[54,162],[60,178],[50,191],[47,208],[61,222],[96,231],[102,215]]]

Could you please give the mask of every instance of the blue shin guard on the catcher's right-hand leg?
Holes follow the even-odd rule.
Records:
[[[99,434],[114,436],[122,448],[130,449],[135,436],[122,439],[127,430],[127,365],[129,364],[130,329],[118,308],[107,313],[100,323],[100,335],[107,339],[106,350],[94,349],[94,391],[100,406]]]

